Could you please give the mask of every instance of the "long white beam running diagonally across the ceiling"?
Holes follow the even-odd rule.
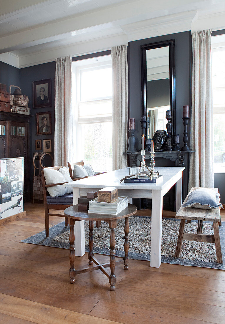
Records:
[[[46,40],[51,37],[62,39],[63,35],[66,33],[75,34],[78,31],[85,31],[85,29],[95,26],[102,28],[104,26],[104,28],[107,28],[110,26],[118,26],[118,24],[121,23],[128,24],[139,20],[160,17],[165,14],[177,13],[180,10],[185,10],[187,7],[190,10],[190,7],[195,5],[195,1],[196,0],[183,0],[181,3],[180,0],[174,0],[172,3],[167,0],[158,0],[154,2],[149,0],[140,0],[131,2],[129,6],[127,4],[122,4],[101,9],[89,14],[70,17],[47,26],[21,31],[0,38],[0,53],[13,51],[22,47],[33,46],[38,43],[40,44],[46,42]],[[208,2],[208,0],[200,0],[199,2]],[[162,8],[166,8],[166,10]]]

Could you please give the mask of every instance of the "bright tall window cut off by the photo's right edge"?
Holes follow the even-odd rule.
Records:
[[[225,172],[225,35],[212,37],[214,172]]]

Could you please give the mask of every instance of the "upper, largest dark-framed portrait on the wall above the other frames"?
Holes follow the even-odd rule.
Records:
[[[33,106],[51,107],[51,79],[33,81]]]

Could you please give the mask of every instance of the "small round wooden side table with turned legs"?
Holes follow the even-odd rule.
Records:
[[[117,215],[111,215],[111,214],[92,214],[88,213],[87,211],[78,210],[77,205],[70,206],[64,210],[65,216],[69,218],[69,225],[70,225],[70,283],[73,284],[75,282],[75,276],[78,273],[87,272],[87,271],[93,271],[100,269],[109,279],[110,284],[110,290],[113,291],[116,289],[116,276],[115,276],[115,265],[119,263],[124,263],[124,270],[128,270],[128,264],[129,264],[129,257],[128,257],[128,250],[129,250],[129,216],[135,214],[137,211],[137,207],[131,204],[128,204],[128,207],[126,207],[122,212],[120,212]],[[115,259],[115,246],[116,246],[116,240],[115,240],[115,229],[117,227],[117,219],[125,218],[125,226],[124,226],[124,258],[123,260],[116,261]],[[75,236],[74,236],[74,225],[76,221],[89,221],[89,253],[88,253],[88,264],[91,266],[93,265],[93,261],[95,262],[96,266],[83,268],[80,270],[74,269],[74,260],[75,260]],[[100,263],[95,257],[93,253],[93,228],[94,224],[93,221],[106,221],[108,223],[108,226],[111,230],[110,234],[110,259],[109,263]],[[111,274],[109,275],[105,268],[110,267]]]

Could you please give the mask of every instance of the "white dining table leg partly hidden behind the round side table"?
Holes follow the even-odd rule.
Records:
[[[80,197],[80,189],[73,188],[73,205],[78,204],[78,198]],[[74,225],[75,235],[75,255],[82,257],[85,254],[85,243],[84,243],[84,221],[77,221]]]

